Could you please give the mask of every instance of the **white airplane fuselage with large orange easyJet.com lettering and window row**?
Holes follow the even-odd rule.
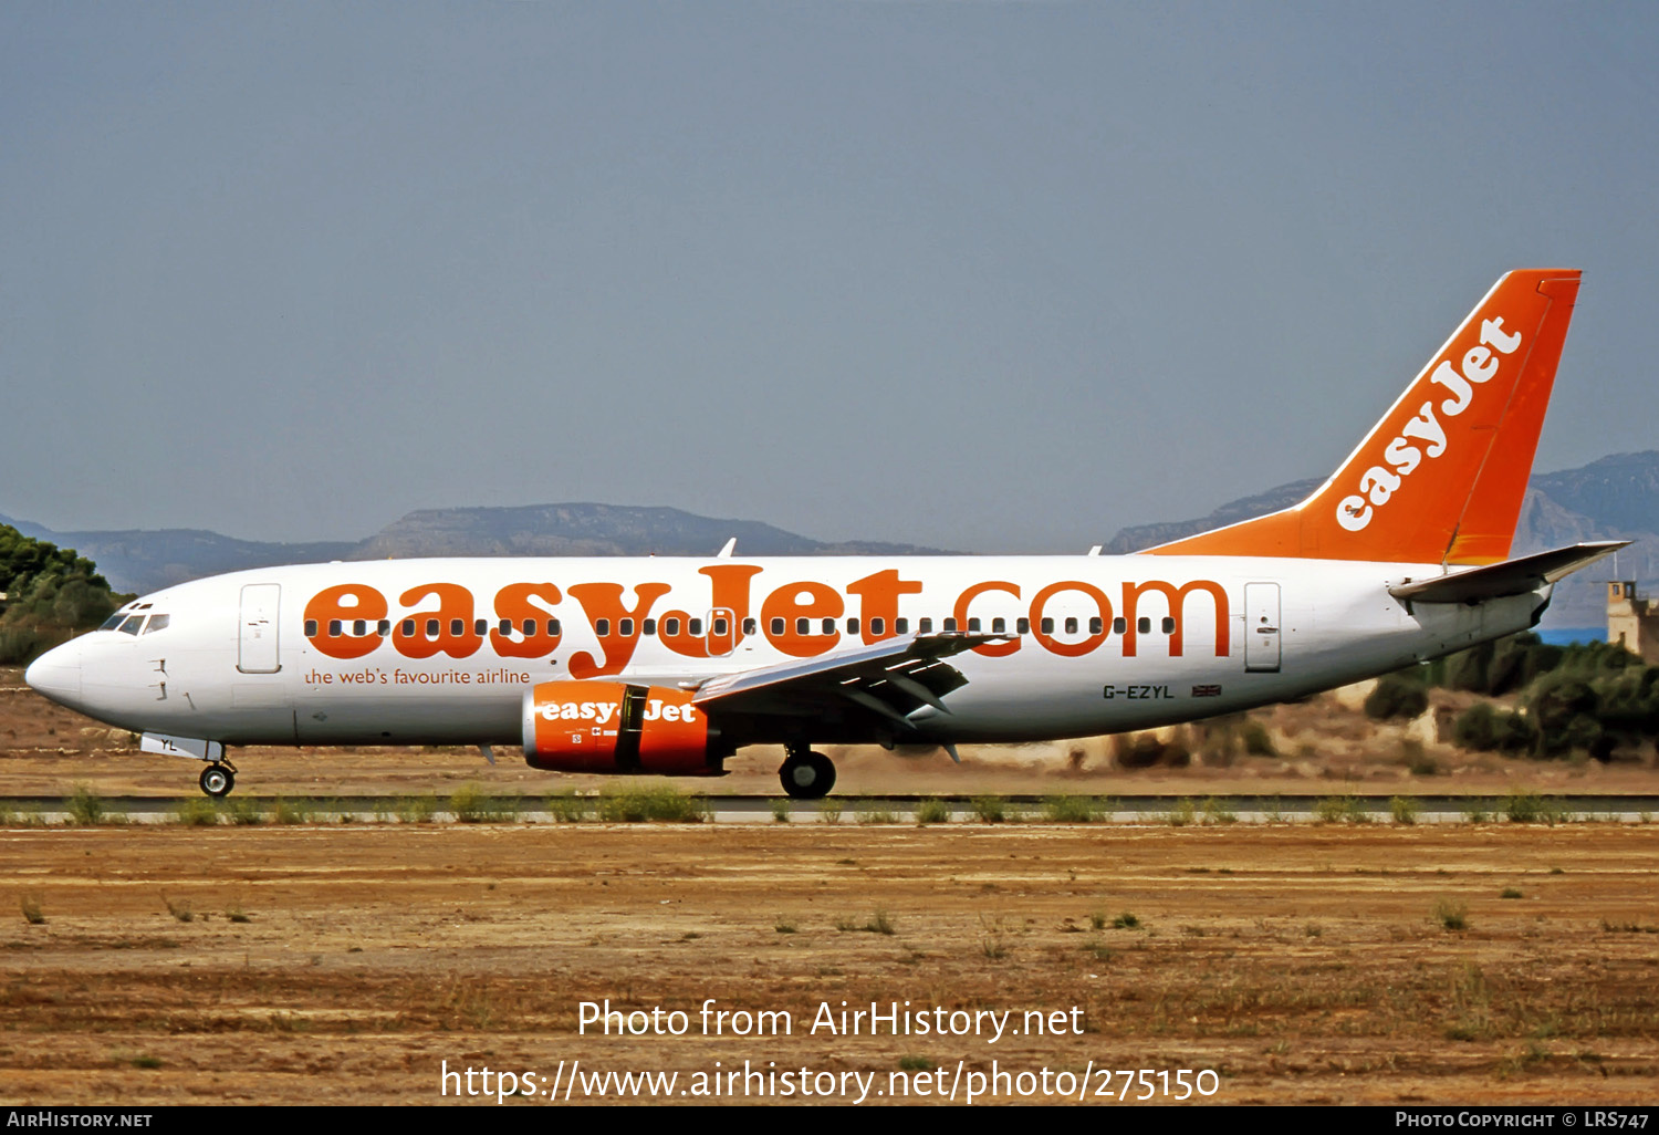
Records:
[[[562,677],[675,687],[999,632],[951,659],[966,684],[949,712],[911,714],[907,740],[1029,742],[1302,697],[1521,631],[1548,601],[1546,586],[1478,606],[1389,594],[1440,574],[1145,554],[307,564],[144,596],[124,611],[166,626],[81,636],[28,680],[123,728],[229,745],[516,743],[526,690]]]

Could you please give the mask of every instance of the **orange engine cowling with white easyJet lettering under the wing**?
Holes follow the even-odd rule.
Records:
[[[549,772],[718,777],[720,730],[685,690],[542,682],[524,695],[524,762]]]

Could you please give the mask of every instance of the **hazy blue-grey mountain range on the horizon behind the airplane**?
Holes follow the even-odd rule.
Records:
[[[1118,531],[1108,553],[1130,553],[1296,504],[1319,486],[1292,481],[1229,501],[1208,516],[1138,524]],[[677,508],[620,504],[529,504],[521,508],[420,509],[362,541],[280,544],[234,539],[201,529],[58,533],[0,516],[25,536],[75,548],[93,559],[116,591],[169,584],[244,568],[328,559],[415,556],[712,556],[737,538],[747,556],[956,554],[914,544],[825,543],[760,521],[712,519]],[[1593,627],[1606,619],[1606,581],[1659,577],[1659,451],[1616,453],[1576,470],[1531,478],[1511,554],[1583,539],[1631,539],[1613,563],[1569,576],[1556,587],[1545,627]]]

